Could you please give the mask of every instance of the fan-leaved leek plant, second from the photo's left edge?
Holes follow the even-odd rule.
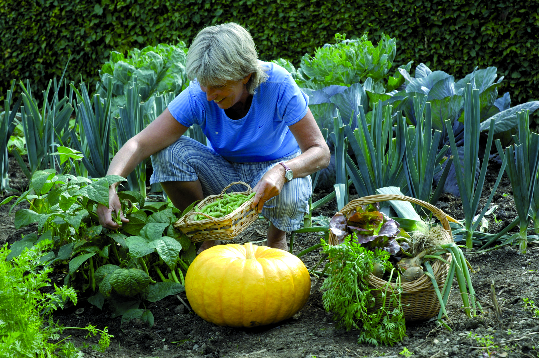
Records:
[[[49,86],[47,86],[46,91],[43,91],[41,111],[31,91],[30,81],[26,81],[26,86],[22,81],[19,83],[23,91],[21,96],[24,106],[20,107],[20,116],[26,139],[29,167],[26,167],[22,157],[16,150],[13,151],[13,155],[29,179],[37,170],[56,168],[57,164],[59,166],[58,158],[49,154],[56,152],[55,147],[64,146],[69,138],[69,120],[71,113],[73,113],[73,107],[71,106],[73,90],[70,89],[68,97],[67,86],[64,84],[64,98],[60,99],[59,84],[61,84],[63,78],[64,74],[62,74],[59,83],[56,78],[49,81]],[[54,92],[52,99],[49,101],[52,84],[54,84]]]

